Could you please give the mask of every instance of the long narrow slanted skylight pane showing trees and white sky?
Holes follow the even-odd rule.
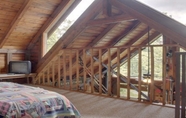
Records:
[[[74,24],[83,12],[93,3],[94,0],[82,0],[68,17],[58,26],[58,28],[47,39],[47,52],[63,36],[63,34]]]

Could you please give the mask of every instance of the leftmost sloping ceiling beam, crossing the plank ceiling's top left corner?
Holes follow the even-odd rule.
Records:
[[[19,23],[19,21],[21,20],[23,15],[26,13],[26,11],[28,10],[28,8],[29,8],[30,4],[32,3],[32,1],[33,0],[25,0],[24,1],[24,4],[20,8],[20,10],[18,11],[17,15],[14,17],[14,19],[12,20],[11,24],[9,25],[9,28],[8,28],[7,32],[5,33],[3,38],[1,39],[1,41],[0,41],[1,42],[0,43],[0,48],[2,48],[3,45],[6,43],[8,37],[10,36],[12,31],[15,29],[15,27],[17,26],[17,24]]]

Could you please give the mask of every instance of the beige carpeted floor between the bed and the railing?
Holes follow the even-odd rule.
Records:
[[[174,108],[149,105],[115,98],[38,86],[65,95],[79,110],[82,118],[174,118]]]

